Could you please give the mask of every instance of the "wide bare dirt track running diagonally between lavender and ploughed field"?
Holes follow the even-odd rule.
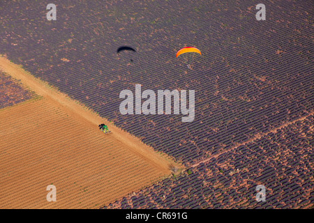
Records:
[[[177,167],[185,168],[183,164],[174,161],[174,157],[166,153],[158,153],[151,146],[144,144],[139,138],[135,137],[130,132],[126,132],[119,128],[114,123],[101,117],[93,109],[87,107],[79,100],[70,98],[70,95],[59,91],[55,86],[48,82],[31,75],[30,72],[24,70],[20,65],[9,61],[6,56],[0,54],[0,70],[10,75],[11,77],[20,80],[22,86],[27,87],[36,95],[49,100],[53,105],[56,105],[70,116],[80,118],[80,121],[93,126],[93,129],[98,130],[98,124],[106,123],[110,131],[111,140],[117,144],[123,144],[128,150],[132,151],[138,157],[152,164],[156,169],[163,171],[164,174],[170,175],[170,164]],[[99,130],[98,130],[99,131]],[[109,137],[109,135],[108,135]]]

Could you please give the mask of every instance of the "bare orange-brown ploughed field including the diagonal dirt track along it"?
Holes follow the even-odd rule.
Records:
[[[40,95],[0,110],[0,208],[100,208],[170,175],[167,155],[3,57],[0,70]]]

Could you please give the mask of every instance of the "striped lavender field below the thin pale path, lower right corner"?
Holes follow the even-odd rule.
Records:
[[[309,116],[105,208],[310,208],[313,122]],[[267,202],[255,200],[260,184]]]

